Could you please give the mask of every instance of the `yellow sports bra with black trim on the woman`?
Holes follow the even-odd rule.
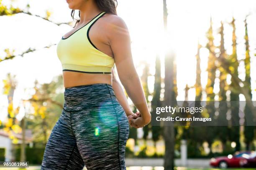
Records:
[[[98,50],[89,37],[90,28],[103,15],[105,12],[95,16],[69,37],[62,36],[57,45],[57,55],[61,61],[62,71],[111,74],[115,63],[114,58]]]

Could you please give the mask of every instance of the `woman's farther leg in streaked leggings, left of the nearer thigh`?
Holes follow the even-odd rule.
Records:
[[[41,170],[82,170],[83,167],[71,129],[70,113],[63,110],[46,144]]]

